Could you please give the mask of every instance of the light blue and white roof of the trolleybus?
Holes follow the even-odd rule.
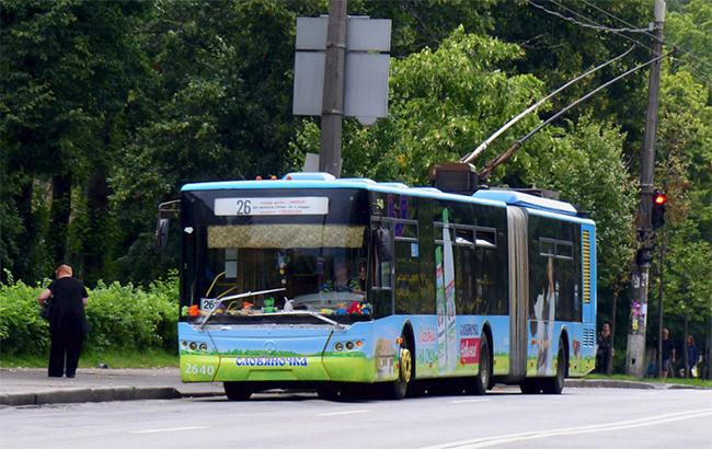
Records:
[[[521,192],[480,189],[472,196],[467,196],[441,192],[435,187],[409,187],[402,183],[379,183],[365,177],[334,179],[334,176],[328,173],[289,173],[282,180],[192,183],[185,184],[181,188],[181,192],[277,188],[358,188],[378,193],[457,200],[494,207],[519,206],[536,215],[595,226],[593,220],[578,217],[576,209],[569,203],[542,198]]]

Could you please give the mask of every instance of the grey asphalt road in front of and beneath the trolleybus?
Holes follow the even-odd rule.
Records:
[[[330,402],[310,393],[0,408],[10,448],[709,448],[712,391]]]

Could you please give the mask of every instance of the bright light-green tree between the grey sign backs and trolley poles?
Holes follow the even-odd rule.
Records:
[[[425,183],[430,164],[468,153],[541,94],[536,78],[497,69],[518,55],[516,46],[459,27],[437,50],[391,59],[389,116],[369,128],[345,124],[344,173]],[[513,133],[537,120],[530,116]],[[307,122],[292,145],[297,164],[303,152],[319,152],[318,137],[317,125]],[[504,148],[497,142],[487,154]]]

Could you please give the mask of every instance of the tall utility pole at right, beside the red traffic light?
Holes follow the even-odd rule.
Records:
[[[665,0],[655,0],[654,57],[663,53]],[[647,320],[647,286],[653,258],[653,227],[651,223],[653,172],[655,168],[655,136],[657,103],[661,87],[661,60],[653,62],[648,79],[645,139],[641,152],[640,204],[638,208],[639,250],[631,273],[631,315],[625,353],[625,372],[642,378],[645,372],[645,330]]]

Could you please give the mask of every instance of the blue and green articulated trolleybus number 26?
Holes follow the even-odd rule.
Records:
[[[594,368],[596,228],[567,203],[291,173],[187,184],[180,211],[181,376],[230,400],[556,394]]]

